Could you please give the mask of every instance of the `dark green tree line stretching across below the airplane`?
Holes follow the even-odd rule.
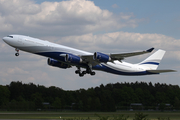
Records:
[[[131,106],[136,103],[142,105]],[[151,82],[109,83],[79,90],[63,90],[20,81],[0,85],[1,110],[116,111],[132,108],[179,109],[180,88],[178,85],[153,85]]]

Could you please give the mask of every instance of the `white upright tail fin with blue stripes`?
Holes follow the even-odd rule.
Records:
[[[138,65],[148,67],[150,70],[156,70],[158,68],[158,65],[160,64],[160,61],[162,60],[165,52],[166,51],[159,49],[154,54],[149,56],[147,59],[140,62]]]

